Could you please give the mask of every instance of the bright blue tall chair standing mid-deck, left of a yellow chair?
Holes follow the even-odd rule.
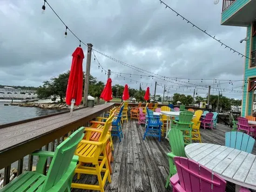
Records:
[[[153,111],[147,109],[147,118],[148,118],[148,125],[146,127],[146,131],[143,136],[143,140],[146,136],[158,137],[158,140],[161,141],[161,126],[162,122],[160,121],[160,116],[154,116]]]

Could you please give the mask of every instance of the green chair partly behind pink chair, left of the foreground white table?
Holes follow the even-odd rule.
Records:
[[[182,136],[182,132],[178,129],[170,129],[168,132],[169,144],[171,146],[172,152],[168,152],[168,160],[169,160],[169,175],[166,180],[165,188],[168,187],[170,178],[174,174],[177,173],[176,166],[174,164],[173,158],[176,156],[186,157],[184,140]]]

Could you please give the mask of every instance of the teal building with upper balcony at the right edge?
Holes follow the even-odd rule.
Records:
[[[256,0],[222,0],[221,25],[247,27],[244,59],[242,114],[252,114],[256,89]],[[234,37],[236,39],[236,37]]]

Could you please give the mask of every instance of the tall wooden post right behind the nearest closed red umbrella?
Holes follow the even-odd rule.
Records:
[[[88,46],[88,49],[87,49],[86,71],[85,71],[85,79],[84,79],[85,82],[84,82],[83,106],[87,106],[87,100],[88,100],[90,67],[91,67],[91,57],[92,57],[92,47],[93,47],[93,45],[88,43],[87,46]]]

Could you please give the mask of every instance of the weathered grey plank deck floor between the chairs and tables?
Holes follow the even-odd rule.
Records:
[[[225,145],[224,132],[230,131],[228,126],[217,125],[215,130],[201,129],[202,142]],[[142,140],[144,127],[138,126],[136,121],[129,121],[123,125],[124,138],[121,142],[113,138],[115,151],[112,163],[112,183],[105,186],[105,192],[170,192],[171,187],[165,189],[168,176],[168,159],[166,153],[170,151],[168,140],[147,137]],[[254,146],[253,154],[256,154]],[[97,183],[95,176],[82,175],[79,183]],[[72,192],[89,192],[91,190],[72,189]],[[235,185],[228,183],[226,192],[234,192]]]

